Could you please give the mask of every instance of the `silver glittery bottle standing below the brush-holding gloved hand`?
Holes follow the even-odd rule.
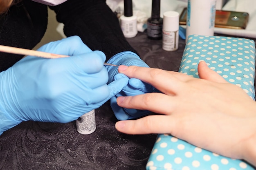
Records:
[[[85,113],[76,120],[76,130],[83,135],[91,134],[95,131],[95,129],[96,121],[94,109],[88,113]]]

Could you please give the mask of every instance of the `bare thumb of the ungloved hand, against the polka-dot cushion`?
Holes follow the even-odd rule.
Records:
[[[211,70],[206,64],[206,62],[201,61],[198,64],[198,75],[201,79],[206,79],[211,82],[218,82],[218,83],[226,83],[227,81],[218,73]]]

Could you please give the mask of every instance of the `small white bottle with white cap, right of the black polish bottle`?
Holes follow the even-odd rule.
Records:
[[[165,51],[175,51],[179,47],[179,13],[167,11],[163,14],[163,44]]]

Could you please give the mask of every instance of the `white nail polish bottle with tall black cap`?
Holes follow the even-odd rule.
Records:
[[[132,15],[132,0],[124,0],[124,15],[120,17],[120,22],[126,38],[132,38],[137,35],[137,17]]]

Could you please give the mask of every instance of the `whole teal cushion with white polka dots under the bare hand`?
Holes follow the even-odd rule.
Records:
[[[245,38],[190,35],[179,72],[198,77],[204,60],[228,82],[236,84],[255,100],[255,44]],[[171,135],[159,134],[147,170],[254,170],[247,162],[231,159],[193,146]]]

